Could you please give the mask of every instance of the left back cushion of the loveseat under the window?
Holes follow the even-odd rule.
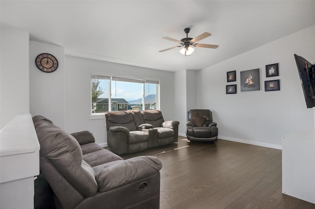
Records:
[[[106,130],[113,126],[123,126],[129,131],[136,131],[133,115],[129,111],[112,111],[105,113]]]

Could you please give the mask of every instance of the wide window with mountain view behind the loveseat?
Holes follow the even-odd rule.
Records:
[[[158,109],[158,92],[158,80],[92,74],[91,112]]]

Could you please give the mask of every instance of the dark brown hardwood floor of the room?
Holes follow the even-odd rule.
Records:
[[[226,140],[178,143],[122,155],[163,163],[160,209],[315,209],[282,194],[282,151]]]

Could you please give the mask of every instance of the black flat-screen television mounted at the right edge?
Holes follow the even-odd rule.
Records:
[[[315,65],[294,54],[307,108],[315,106]]]

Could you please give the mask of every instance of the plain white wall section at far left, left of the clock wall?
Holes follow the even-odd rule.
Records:
[[[1,27],[0,129],[15,116],[30,113],[27,31]]]

